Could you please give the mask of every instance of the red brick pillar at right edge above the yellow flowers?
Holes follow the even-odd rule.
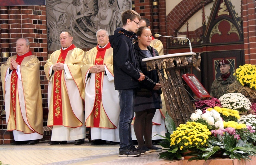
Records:
[[[242,1],[245,64],[256,64],[255,7],[256,7],[255,0]]]

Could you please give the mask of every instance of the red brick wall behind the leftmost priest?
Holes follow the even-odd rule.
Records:
[[[16,54],[15,47],[18,38],[23,37],[29,39],[30,50],[40,61],[43,108],[47,108],[48,87],[48,82],[43,72],[43,66],[48,59],[45,10],[45,5],[0,7],[1,63],[7,59],[3,57],[3,53],[9,53],[10,56]],[[4,109],[2,86],[0,87],[0,103],[0,114],[2,114],[2,110]],[[0,120],[0,144],[8,144],[10,143],[10,139],[13,139],[12,132],[6,132],[4,129],[6,129],[6,121]]]

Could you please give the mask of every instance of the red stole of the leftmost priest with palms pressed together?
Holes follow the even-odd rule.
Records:
[[[27,56],[32,55],[31,51],[28,51],[27,53],[23,54],[23,55],[16,55],[16,63],[18,63],[19,65],[22,63],[23,59]],[[12,71],[12,76],[11,76],[11,99],[12,99],[12,110],[13,110],[13,116],[14,116],[14,120],[16,123],[16,93],[17,93],[17,80],[18,80],[18,75],[17,75],[17,70],[13,69]]]

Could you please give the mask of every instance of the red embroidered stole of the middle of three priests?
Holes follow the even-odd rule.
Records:
[[[75,46],[72,44],[65,50],[60,50],[60,55],[56,63],[65,62],[68,51],[74,49]],[[63,125],[62,121],[62,97],[61,97],[61,77],[63,70],[57,70],[54,73],[53,79],[53,125]]]

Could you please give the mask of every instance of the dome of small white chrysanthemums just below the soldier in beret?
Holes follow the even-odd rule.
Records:
[[[221,101],[223,108],[238,110],[239,112],[246,112],[252,106],[250,100],[241,93],[224,94],[219,98],[219,101]]]

